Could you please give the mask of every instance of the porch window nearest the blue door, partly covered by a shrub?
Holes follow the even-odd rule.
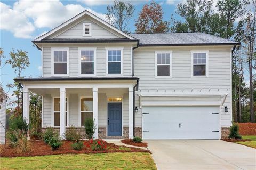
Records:
[[[93,98],[81,98],[81,126],[86,118],[93,118]]]

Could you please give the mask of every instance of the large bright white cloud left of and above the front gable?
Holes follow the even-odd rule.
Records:
[[[20,0],[13,7],[0,2],[0,7],[0,29],[11,31],[18,38],[33,38],[37,28],[52,29],[84,10],[105,19],[105,14],[79,4],[64,5],[59,0]]]

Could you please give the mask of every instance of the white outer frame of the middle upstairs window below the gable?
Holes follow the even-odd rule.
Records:
[[[81,64],[92,61],[82,61],[81,60],[81,51],[93,51],[93,74],[82,74]],[[78,47],[78,75],[79,76],[96,76],[97,75],[97,58],[96,58],[97,47]]]

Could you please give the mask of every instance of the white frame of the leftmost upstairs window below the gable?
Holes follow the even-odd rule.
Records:
[[[67,61],[66,62],[54,62],[54,51],[67,51]],[[52,56],[52,76],[69,76],[69,47],[51,47],[51,56]],[[54,74],[54,63],[67,63],[67,74]]]

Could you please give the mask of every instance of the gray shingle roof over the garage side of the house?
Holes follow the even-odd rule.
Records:
[[[154,33],[154,34],[130,34],[140,40],[140,45],[238,45],[240,43],[229,41],[205,33]]]

